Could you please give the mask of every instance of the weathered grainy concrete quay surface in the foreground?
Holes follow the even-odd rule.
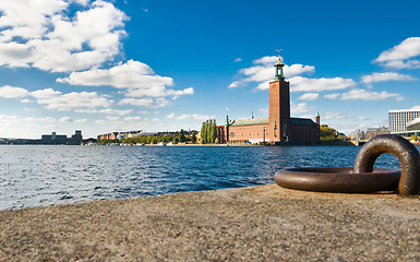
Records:
[[[420,198],[245,189],[0,212],[1,261],[420,261]]]

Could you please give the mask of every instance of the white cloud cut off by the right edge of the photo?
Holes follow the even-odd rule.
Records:
[[[420,56],[420,37],[409,37],[399,45],[381,52],[374,60],[388,68],[420,68],[420,60],[413,59]]]

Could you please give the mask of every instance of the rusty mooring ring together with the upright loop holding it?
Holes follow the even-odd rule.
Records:
[[[397,156],[401,170],[373,169],[384,153]],[[284,188],[319,192],[369,193],[394,191],[400,195],[420,192],[420,155],[407,140],[392,134],[379,135],[363,145],[355,167],[301,167],[278,170],[274,179]]]

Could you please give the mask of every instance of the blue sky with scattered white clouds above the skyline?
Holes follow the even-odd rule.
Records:
[[[291,116],[350,133],[420,108],[419,1],[0,0],[0,138]]]

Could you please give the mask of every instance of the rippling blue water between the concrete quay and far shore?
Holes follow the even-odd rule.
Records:
[[[0,146],[0,210],[239,188],[277,169],[352,166],[356,146]],[[375,167],[400,168],[389,154]]]

